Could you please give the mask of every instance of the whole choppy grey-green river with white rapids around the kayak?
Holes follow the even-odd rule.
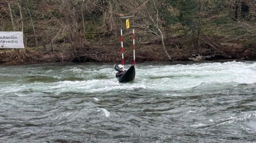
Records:
[[[256,62],[0,65],[0,141],[256,142]]]

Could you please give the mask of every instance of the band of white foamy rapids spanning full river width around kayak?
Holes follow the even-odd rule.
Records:
[[[215,62],[164,66],[144,66],[142,64],[136,66],[135,82],[125,84],[117,81],[113,68],[106,67],[108,67],[108,65],[103,65],[95,69],[74,67],[63,70],[65,74],[78,72],[79,74],[77,76],[87,79],[85,81],[59,81],[53,83],[38,81],[34,83],[23,83],[22,85],[19,83],[7,84],[4,85],[4,87],[0,87],[0,96],[6,93],[17,93],[27,90],[47,91],[52,93],[95,93],[113,90],[134,90],[137,88],[160,91],[181,91],[185,89],[190,90],[191,88],[198,90],[219,90],[225,88],[225,85],[236,86],[239,84],[256,83],[256,62]],[[48,70],[48,72],[51,71]],[[50,76],[50,74],[51,73],[47,73],[47,76]],[[95,77],[98,75],[103,75],[104,79],[96,79]],[[68,75],[52,75],[52,77],[57,79],[61,79],[63,76],[67,77]],[[166,94],[166,96],[183,95],[170,93]]]

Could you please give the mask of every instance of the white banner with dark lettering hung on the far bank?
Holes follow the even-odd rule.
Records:
[[[25,48],[23,32],[0,31],[0,48]]]

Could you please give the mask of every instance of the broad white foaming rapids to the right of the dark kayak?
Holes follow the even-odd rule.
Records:
[[[190,65],[142,66],[136,70],[147,87],[160,90],[182,90],[201,84],[253,84],[256,82],[256,62],[214,62]],[[145,70],[146,69],[146,70]]]

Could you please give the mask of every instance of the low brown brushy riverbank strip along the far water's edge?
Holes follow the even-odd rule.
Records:
[[[136,47],[136,61],[169,61],[162,50],[161,44],[140,44]],[[209,45],[195,50],[170,45],[166,46],[168,54],[174,61],[203,61],[243,59],[255,60],[256,50],[242,44],[222,43],[221,52]],[[133,51],[128,45],[124,50],[125,62],[132,62]],[[0,63],[45,63],[45,62],[121,62],[121,48],[118,46],[95,48],[79,47],[72,50],[56,50],[47,52],[40,48],[26,48],[21,50],[0,50]]]

